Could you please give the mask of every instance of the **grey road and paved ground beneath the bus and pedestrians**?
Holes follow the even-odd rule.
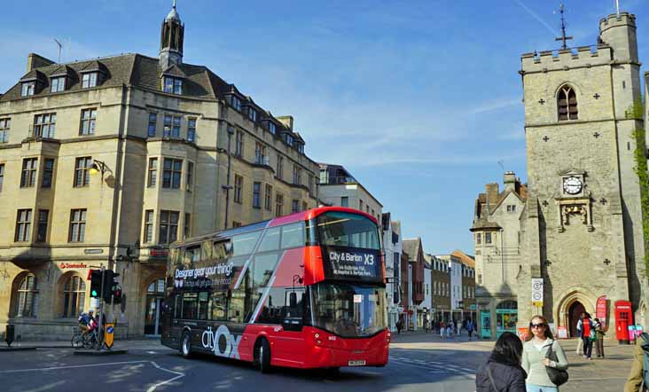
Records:
[[[607,342],[608,343],[608,342]],[[184,359],[157,340],[116,341],[113,349],[128,354],[74,356],[65,342],[14,343],[35,350],[0,351],[0,386],[4,392],[93,392],[306,389],[324,391],[456,391],[475,390],[475,371],[489,357],[494,341],[452,341],[432,333],[394,334],[390,362],[383,368],[343,368],[338,375],[279,368],[262,374],[253,365],[211,356]],[[69,343],[68,343],[69,344]],[[561,392],[620,392],[631,364],[632,346],[606,345],[606,358],[587,361],[575,355],[576,341],[561,341],[570,362],[570,380]],[[13,345],[12,345],[13,346]],[[98,382],[98,380],[101,380]]]

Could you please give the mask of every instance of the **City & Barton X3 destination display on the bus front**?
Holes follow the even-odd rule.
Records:
[[[378,250],[356,247],[324,247],[324,275],[326,278],[382,282]]]

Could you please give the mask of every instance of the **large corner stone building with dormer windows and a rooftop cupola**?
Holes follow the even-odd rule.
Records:
[[[184,28],[174,7],[155,59],[30,54],[0,97],[1,330],[68,337],[105,266],[118,334],[157,334],[169,243],[317,206],[293,118],[185,63]]]

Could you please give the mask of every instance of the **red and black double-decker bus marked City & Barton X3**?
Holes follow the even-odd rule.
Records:
[[[171,246],[161,342],[259,365],[384,366],[385,268],[373,216],[315,208]]]

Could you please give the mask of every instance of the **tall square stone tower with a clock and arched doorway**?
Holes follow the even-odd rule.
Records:
[[[528,200],[521,217],[519,325],[543,312],[574,333],[581,311],[599,296],[633,303],[646,325],[640,185],[634,171],[631,109],[641,98],[636,19],[599,22],[598,44],[522,55]],[[640,116],[641,117],[641,116]],[[644,147],[642,147],[644,148]],[[531,302],[531,278],[543,278],[543,310]],[[643,312],[644,310],[644,312]]]

